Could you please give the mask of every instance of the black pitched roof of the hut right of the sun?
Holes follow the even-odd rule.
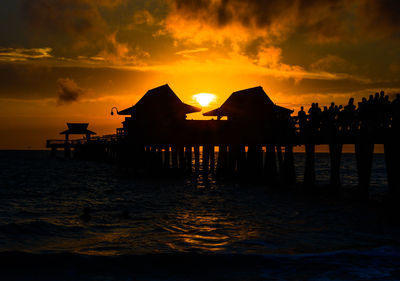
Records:
[[[293,110],[272,102],[262,87],[254,87],[231,94],[221,107],[204,113],[204,116],[227,116],[229,120],[266,121],[290,117]]]

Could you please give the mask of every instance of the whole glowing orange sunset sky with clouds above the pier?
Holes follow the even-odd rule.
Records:
[[[207,109],[254,86],[296,111],[400,92],[397,0],[2,0],[0,25],[0,149],[114,133],[113,106],[166,83]]]

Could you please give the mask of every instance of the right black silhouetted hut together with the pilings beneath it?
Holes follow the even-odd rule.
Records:
[[[280,165],[280,169],[283,178],[292,183],[295,180],[291,156],[293,146],[284,141],[289,135],[294,137],[294,124],[290,117],[292,113],[293,110],[275,105],[262,87],[254,87],[232,93],[221,107],[203,115],[217,116],[218,120],[227,117],[231,123],[228,135],[237,140],[236,146],[232,146],[232,153],[236,155],[233,165],[244,166],[255,176],[265,172],[270,182],[277,180],[275,147],[279,146],[277,149],[280,150],[281,145],[286,145],[285,163]],[[248,146],[247,162],[244,157],[245,146]],[[266,149],[265,161],[263,146]]]

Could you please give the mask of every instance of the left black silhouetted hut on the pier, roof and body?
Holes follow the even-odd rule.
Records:
[[[151,89],[132,107],[118,111],[127,115],[123,122],[124,135],[157,142],[176,135],[186,120],[186,115],[201,111],[183,103],[168,84]]]

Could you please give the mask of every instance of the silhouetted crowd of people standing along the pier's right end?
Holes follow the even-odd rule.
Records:
[[[368,99],[362,98],[357,107],[354,98],[350,98],[345,106],[332,102],[323,109],[318,103],[313,103],[307,113],[302,106],[295,119],[300,133],[350,133],[357,130],[379,133],[400,127],[400,94],[390,101],[383,91],[375,93]]]

